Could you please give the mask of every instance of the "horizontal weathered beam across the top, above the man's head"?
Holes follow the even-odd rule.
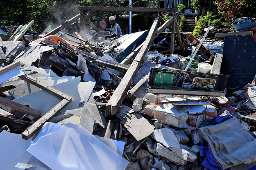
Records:
[[[81,6],[79,9],[96,11],[131,11],[131,12],[177,12],[178,8],[143,8],[143,7],[89,7]]]

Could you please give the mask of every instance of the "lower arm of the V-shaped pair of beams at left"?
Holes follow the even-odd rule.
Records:
[[[43,115],[40,119],[38,119],[33,125],[27,128],[22,133],[22,138],[28,140],[31,136],[33,136],[37,130],[43,126],[43,124],[47,121],[50,121],[56,114],[58,114],[66,105],[68,105],[70,101],[63,99],[56,106],[54,106],[49,112]]]

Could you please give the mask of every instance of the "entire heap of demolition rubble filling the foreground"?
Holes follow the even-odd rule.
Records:
[[[243,88],[213,89],[228,82],[229,76],[220,74],[220,54],[214,55],[193,34],[184,33],[184,46],[175,45],[184,54],[166,54],[165,45],[172,43],[165,39],[152,42],[172,21],[174,17],[156,30],[156,18],[150,31],[96,42],[76,32],[66,34],[77,40],[69,43],[62,34],[57,36],[58,30],[56,35],[50,31],[33,41],[0,41],[0,150],[6,155],[0,163],[4,169],[235,170],[255,166],[255,156],[239,154],[243,149],[252,153],[256,146],[256,80],[239,82],[247,84]],[[95,30],[94,40],[103,35],[99,32]],[[143,39],[140,44],[129,42],[136,36]],[[211,69],[199,72],[200,62],[211,63]],[[170,92],[171,88],[178,93]],[[192,89],[191,94],[186,88]],[[158,89],[164,91],[154,91]],[[207,95],[199,95],[203,92]]]

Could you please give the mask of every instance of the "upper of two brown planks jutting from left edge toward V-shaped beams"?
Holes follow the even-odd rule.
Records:
[[[4,105],[6,107],[10,107],[11,109],[20,111],[22,113],[29,114],[34,117],[39,117],[41,115],[41,112],[39,110],[34,110],[30,107],[27,107],[25,105],[15,102],[15,101],[10,101],[3,97],[0,97],[0,104]]]

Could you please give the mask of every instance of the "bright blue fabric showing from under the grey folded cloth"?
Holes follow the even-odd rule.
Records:
[[[227,119],[231,119],[232,117],[233,116],[230,115],[215,117],[209,125],[221,123],[223,121],[226,121]],[[206,140],[204,140],[202,142],[202,145],[200,146],[200,156],[205,157],[204,161],[201,163],[201,165],[204,166],[205,168],[208,168],[209,170],[222,170],[222,168],[220,168],[219,164],[213,157],[213,154],[211,153],[211,150]],[[230,169],[227,168],[225,170]],[[248,170],[256,170],[256,166],[253,166]]]

